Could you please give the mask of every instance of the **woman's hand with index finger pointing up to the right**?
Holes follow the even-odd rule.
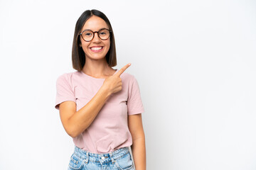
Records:
[[[122,90],[122,79],[120,75],[130,66],[131,64],[127,64],[122,69],[120,69],[117,74],[114,74],[103,82],[102,87],[110,92],[110,94],[117,93]]]

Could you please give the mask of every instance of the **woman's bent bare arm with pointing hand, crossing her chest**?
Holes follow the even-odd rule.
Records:
[[[129,66],[130,64],[127,64],[119,72],[105,79],[97,94],[79,111],[76,111],[76,104],[73,101],[60,103],[60,120],[68,135],[77,137],[92,124],[100,109],[107,101],[107,98],[111,94],[122,90],[122,79],[120,75]]]

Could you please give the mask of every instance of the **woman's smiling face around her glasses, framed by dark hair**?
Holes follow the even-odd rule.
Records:
[[[82,30],[89,29],[95,32],[102,28],[110,29],[102,18],[92,16],[85,22]],[[80,42],[82,50],[85,52],[85,58],[90,58],[91,60],[102,60],[110,50],[110,38],[101,40],[97,33],[95,33],[94,38],[90,42],[86,42],[82,39],[82,36],[80,36]]]

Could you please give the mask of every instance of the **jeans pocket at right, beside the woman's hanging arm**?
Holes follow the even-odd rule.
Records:
[[[134,164],[132,162],[132,157],[129,152],[125,154],[123,157],[116,159],[115,166],[117,166],[117,169],[119,170],[132,170],[134,169]]]

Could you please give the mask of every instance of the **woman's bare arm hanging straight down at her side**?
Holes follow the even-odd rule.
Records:
[[[146,145],[142,125],[142,113],[128,115],[128,127],[132,134],[132,157],[136,170],[146,170]]]

